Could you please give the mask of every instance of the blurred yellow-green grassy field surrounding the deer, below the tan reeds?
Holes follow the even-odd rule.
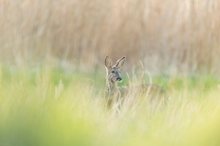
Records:
[[[219,78],[158,76],[169,96],[152,108],[141,97],[120,113],[104,106],[104,73],[0,68],[1,146],[217,146]],[[124,81],[126,84],[126,81]]]

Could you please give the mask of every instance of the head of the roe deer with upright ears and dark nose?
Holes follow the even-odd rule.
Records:
[[[122,57],[113,65],[112,60],[108,56],[105,58],[106,74],[109,82],[115,83],[122,80],[120,68],[124,61],[125,57]]]

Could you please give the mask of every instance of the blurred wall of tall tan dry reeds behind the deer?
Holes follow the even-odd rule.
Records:
[[[218,0],[1,0],[1,61],[93,69],[126,55],[151,72],[217,73],[219,11]]]

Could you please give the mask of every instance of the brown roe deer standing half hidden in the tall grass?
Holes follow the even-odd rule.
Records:
[[[130,90],[135,89],[139,95],[155,95],[157,96],[164,92],[164,90],[155,84],[141,84],[138,86],[128,86],[124,88],[118,87],[118,81],[122,80],[121,76],[121,67],[125,62],[125,57],[122,57],[113,64],[110,57],[106,56],[105,58],[105,68],[106,68],[106,93],[105,97],[107,98],[107,106],[111,107],[112,104],[120,106],[125,98],[130,92]],[[154,98],[152,96],[151,98]]]

